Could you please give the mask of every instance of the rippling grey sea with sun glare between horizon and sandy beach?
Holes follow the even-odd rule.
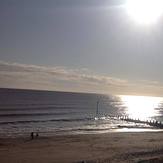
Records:
[[[163,98],[0,89],[0,136],[154,130],[117,116],[163,122]]]

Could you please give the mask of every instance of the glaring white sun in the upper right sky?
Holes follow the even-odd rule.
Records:
[[[126,0],[128,14],[139,24],[153,24],[163,14],[163,0]]]

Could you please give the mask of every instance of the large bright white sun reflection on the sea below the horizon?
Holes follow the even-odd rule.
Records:
[[[137,119],[148,119],[156,116],[159,104],[163,101],[161,97],[149,96],[120,96],[124,106],[126,107],[126,114]]]

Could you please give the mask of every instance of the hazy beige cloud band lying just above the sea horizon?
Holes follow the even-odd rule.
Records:
[[[158,81],[127,81],[95,74],[87,69],[72,70],[4,61],[0,61],[0,87],[113,94],[163,93],[163,86]]]

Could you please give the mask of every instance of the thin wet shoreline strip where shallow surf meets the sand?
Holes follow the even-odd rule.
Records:
[[[100,135],[110,133],[163,133],[163,129],[150,127],[119,127],[115,129],[80,129],[80,130],[63,130],[63,131],[31,131],[38,133],[41,137],[71,136],[71,135]],[[21,139],[30,137],[31,132],[0,134],[0,139]]]

